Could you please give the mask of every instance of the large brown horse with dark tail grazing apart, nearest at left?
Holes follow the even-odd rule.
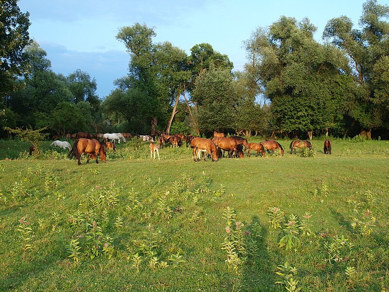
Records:
[[[100,153],[100,159],[102,162],[106,163],[106,143],[100,143],[96,139],[90,140],[86,138],[80,138],[74,141],[73,147],[71,148],[68,158],[73,156],[77,159],[78,165],[81,165],[80,157],[81,154],[88,154],[87,163],[89,159],[96,159],[96,163],[99,163],[97,157]]]

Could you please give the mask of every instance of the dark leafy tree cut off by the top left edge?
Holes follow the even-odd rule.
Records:
[[[16,78],[28,69],[23,49],[30,43],[29,13],[22,13],[18,0],[0,1],[0,96],[16,89]]]

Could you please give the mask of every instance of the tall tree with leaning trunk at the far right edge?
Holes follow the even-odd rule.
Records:
[[[353,22],[346,16],[327,22],[323,37],[331,39],[349,58],[351,76],[346,105],[347,113],[367,130],[384,126],[389,128],[388,55],[389,6],[368,0],[363,4],[359,24],[361,30],[353,29]],[[387,87],[386,87],[387,88]]]

